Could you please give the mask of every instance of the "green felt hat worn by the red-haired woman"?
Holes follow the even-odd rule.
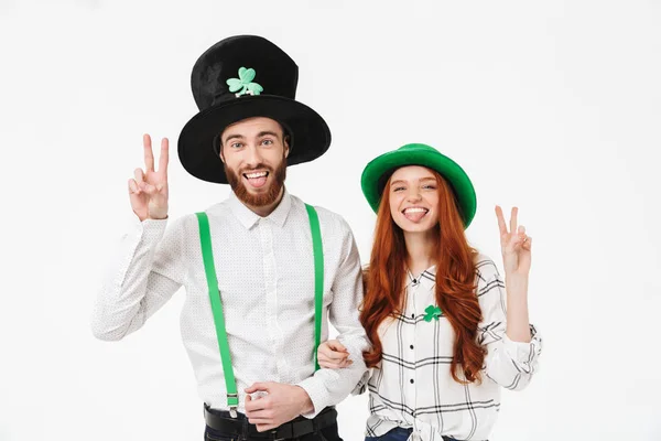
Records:
[[[404,165],[422,165],[435,170],[452,185],[459,205],[459,213],[467,228],[475,216],[477,197],[470,179],[452,159],[425,144],[407,144],[372,159],[362,171],[360,185],[367,202],[379,211],[381,193],[388,179]]]

